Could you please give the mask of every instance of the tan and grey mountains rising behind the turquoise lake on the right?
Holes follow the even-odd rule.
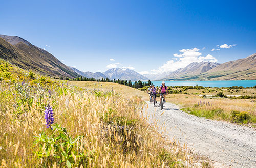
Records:
[[[256,80],[256,53],[223,64],[191,63],[162,80]]]

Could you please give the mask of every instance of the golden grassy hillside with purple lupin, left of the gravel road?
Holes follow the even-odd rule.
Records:
[[[51,82],[4,61],[0,74],[1,167],[209,166],[141,118],[142,91]]]

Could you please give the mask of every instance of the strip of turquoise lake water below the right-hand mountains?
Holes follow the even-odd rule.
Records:
[[[162,85],[162,81],[152,81],[155,86]],[[256,80],[220,80],[220,81],[165,81],[167,86],[203,86],[203,87],[253,87]]]

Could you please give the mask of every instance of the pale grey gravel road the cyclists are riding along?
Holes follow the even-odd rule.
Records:
[[[186,143],[216,167],[256,167],[255,129],[189,115],[172,103],[165,103],[163,110],[148,103],[146,110],[159,125],[165,123],[166,138]]]

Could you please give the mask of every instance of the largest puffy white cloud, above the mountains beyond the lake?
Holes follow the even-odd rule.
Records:
[[[184,68],[188,64],[193,62],[202,62],[202,61],[209,61],[209,62],[217,62],[218,60],[213,57],[212,55],[208,54],[205,57],[201,56],[202,53],[199,52],[200,49],[198,48],[192,48],[192,49],[182,49],[180,50],[180,54],[175,53],[174,59],[168,60],[165,62],[162,66],[160,66],[158,69],[153,69],[151,72],[148,72],[149,74],[158,74],[163,72],[170,72],[175,71],[179,68]],[[142,71],[145,72],[145,71]]]

